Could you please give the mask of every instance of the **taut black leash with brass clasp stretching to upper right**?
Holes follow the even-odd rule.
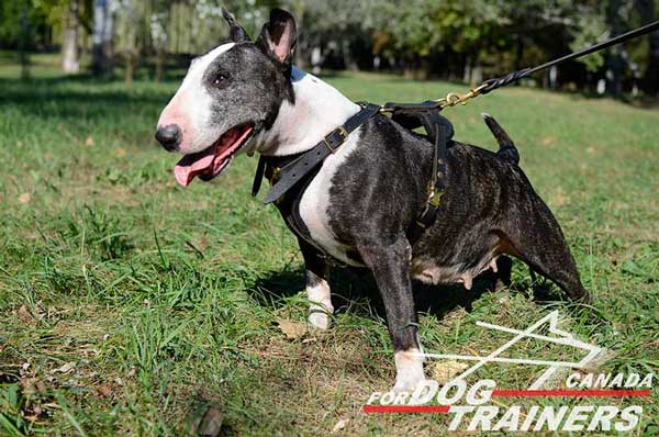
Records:
[[[604,48],[611,47],[616,44],[624,43],[626,41],[636,38],[638,36],[648,34],[648,33],[657,31],[657,30],[659,30],[659,20],[657,20],[652,23],[646,24],[641,27],[635,29],[633,31],[629,31],[627,33],[624,33],[622,35],[614,36],[613,38],[610,38],[602,43],[587,47],[579,52],[574,52],[574,53],[570,53],[568,55],[561,56],[557,59],[550,60],[550,61],[539,65],[537,67],[524,68],[522,70],[513,71],[513,72],[505,75],[503,77],[500,77],[500,78],[488,79],[484,82],[482,82],[480,86],[478,86],[478,87],[473,88],[472,90],[470,90],[469,92],[467,92],[466,94],[458,94],[456,92],[450,92],[446,96],[446,98],[435,100],[435,103],[437,104],[437,108],[439,108],[440,110],[446,107],[455,107],[458,103],[467,104],[468,100],[473,99],[477,96],[487,94],[491,91],[494,91],[498,88],[514,83],[514,82],[518,81],[520,79],[530,76],[535,72],[545,70],[547,68],[554,67],[559,64],[567,63],[568,60],[572,60],[572,59],[577,59],[577,58],[580,58],[585,55],[590,55],[591,53],[603,51]]]

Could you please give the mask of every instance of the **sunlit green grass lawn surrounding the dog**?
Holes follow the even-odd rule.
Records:
[[[221,435],[325,435],[339,419],[345,435],[443,433],[443,415],[361,413],[394,376],[381,303],[364,273],[335,274],[327,334],[284,336],[278,322],[306,315],[301,256],[275,209],[249,198],[255,159],[241,157],[214,183],[176,186],[177,158],[152,139],[176,80],[126,88],[44,65],[20,82],[3,61],[0,435],[178,436],[209,407]],[[384,75],[327,80],[373,102],[461,89]],[[659,111],[515,88],[446,111],[458,139],[490,148],[481,111],[516,141],[594,304],[534,301],[517,262],[510,289],[422,290],[425,349],[489,351],[510,336],[476,321],[524,328],[558,309],[561,327],[608,350],[595,371],[656,372]],[[511,354],[567,351],[527,341]],[[502,365],[474,378],[523,389],[537,376]],[[658,394],[635,401],[644,406],[635,435],[659,435]]]

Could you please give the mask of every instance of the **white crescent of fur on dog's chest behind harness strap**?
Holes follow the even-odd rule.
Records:
[[[311,181],[300,200],[300,217],[309,229],[314,243],[328,255],[349,266],[364,267],[362,264],[350,259],[350,247],[342,244],[330,225],[330,189],[332,178],[355,149],[359,142],[361,128],[353,132],[345,144],[323,161],[323,167]]]

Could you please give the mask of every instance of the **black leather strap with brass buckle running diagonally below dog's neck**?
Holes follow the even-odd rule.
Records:
[[[328,155],[335,153],[336,149],[340,147],[346,142],[346,139],[348,139],[348,135],[353,131],[361,126],[368,119],[376,115],[381,108],[380,105],[372,103],[359,104],[361,105],[361,111],[349,117],[343,126],[338,126],[334,131],[330,132],[311,150],[305,152],[299,158],[297,158],[286,167],[281,168],[278,178],[279,180],[275,183],[275,186],[270,189],[270,192],[268,192],[268,194],[266,195],[264,204],[268,204],[280,199],[295,183],[303,179],[304,176],[306,176],[319,164],[321,164]],[[258,192],[258,190],[256,191]],[[253,195],[256,195],[254,190]]]

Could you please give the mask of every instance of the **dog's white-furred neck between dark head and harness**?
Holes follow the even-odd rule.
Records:
[[[291,82],[295,101],[284,100],[272,127],[258,135],[256,147],[261,155],[284,156],[306,152],[359,112],[359,105],[336,88],[295,67]]]

